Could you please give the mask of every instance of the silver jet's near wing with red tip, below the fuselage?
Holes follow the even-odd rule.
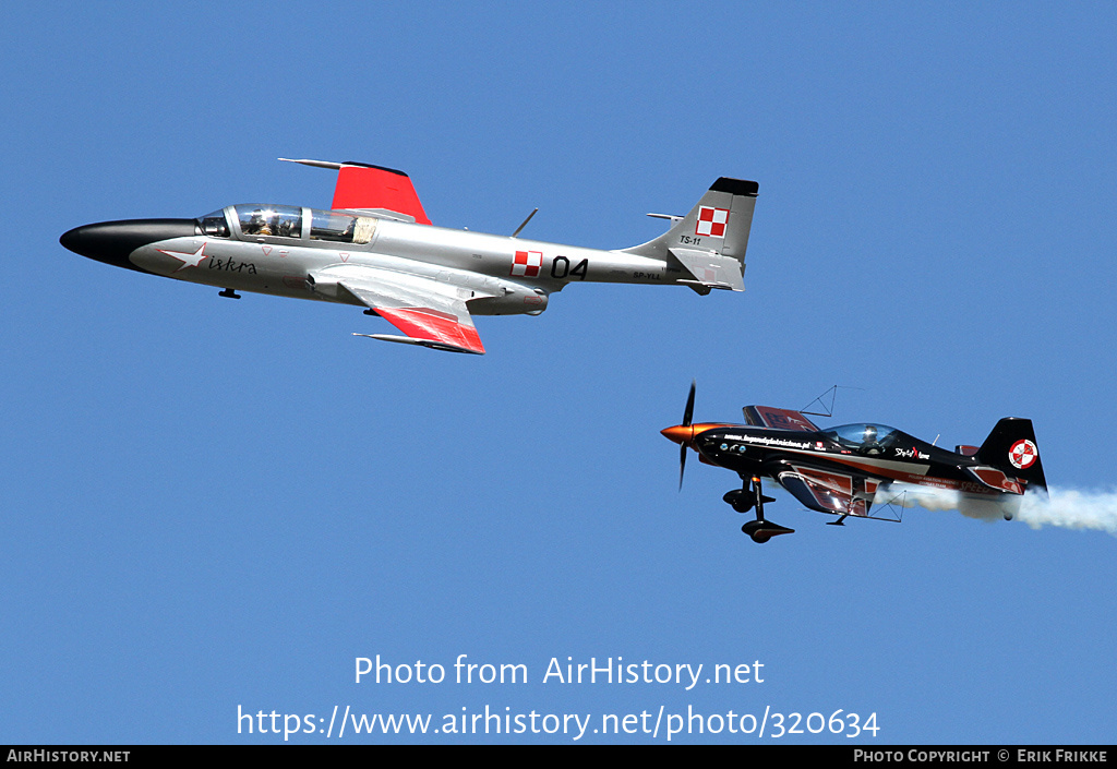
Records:
[[[338,277],[337,285],[407,334],[356,336],[485,354],[469,307],[460,295],[468,292],[458,286],[375,267],[351,267]]]

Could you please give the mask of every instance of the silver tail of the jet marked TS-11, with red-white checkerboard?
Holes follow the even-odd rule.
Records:
[[[722,177],[685,217],[652,215],[670,219],[671,228],[623,251],[680,266],[691,277],[679,283],[699,294],[712,288],[743,291],[745,250],[758,189],[755,181]]]

